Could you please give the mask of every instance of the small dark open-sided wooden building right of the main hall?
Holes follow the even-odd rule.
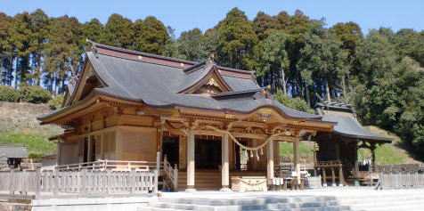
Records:
[[[376,163],[375,149],[379,144],[391,142],[391,139],[363,128],[349,104],[323,101],[317,103],[316,110],[322,120],[337,123],[333,132],[319,132],[314,137],[318,144],[315,168],[321,170],[324,183],[371,180]],[[371,166],[367,172],[358,168],[360,148],[371,150]]]

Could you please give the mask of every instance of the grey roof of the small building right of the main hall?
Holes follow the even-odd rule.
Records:
[[[336,122],[337,125],[334,126],[334,133],[341,134],[347,137],[366,139],[366,140],[376,140],[376,141],[385,141],[390,142],[391,139],[380,136],[379,134],[374,134],[368,131],[367,129],[361,126],[361,123],[358,122],[356,118],[345,117],[334,114],[324,114],[322,116],[323,121]]]

